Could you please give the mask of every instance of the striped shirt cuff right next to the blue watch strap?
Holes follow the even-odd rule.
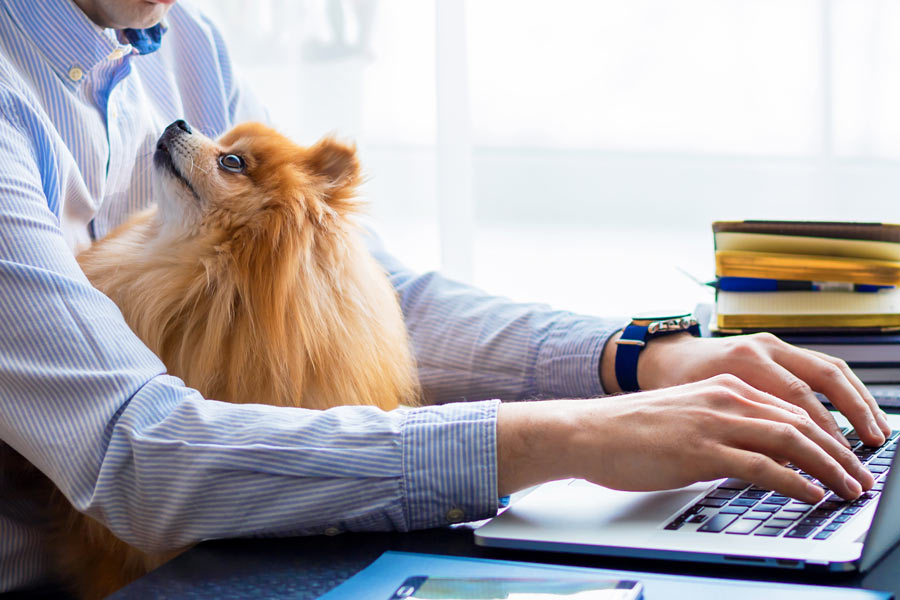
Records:
[[[600,381],[600,356],[619,319],[560,316],[540,341],[535,384],[541,398],[591,398],[606,392]]]

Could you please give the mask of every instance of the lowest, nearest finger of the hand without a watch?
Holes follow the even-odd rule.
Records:
[[[782,467],[764,454],[723,446],[716,456],[723,474],[749,481],[767,490],[815,504],[825,492],[795,471]]]

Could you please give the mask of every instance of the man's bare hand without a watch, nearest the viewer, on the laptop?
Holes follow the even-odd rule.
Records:
[[[498,492],[580,477],[621,490],[661,490],[739,477],[808,502],[874,485],[845,445],[793,404],[733,375],[593,400],[511,402],[497,420]]]

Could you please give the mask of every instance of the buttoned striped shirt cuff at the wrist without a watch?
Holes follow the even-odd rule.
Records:
[[[499,404],[457,402],[407,412],[401,434],[410,529],[497,514]]]

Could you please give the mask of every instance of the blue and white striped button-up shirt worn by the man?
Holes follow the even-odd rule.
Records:
[[[601,394],[617,324],[415,275],[373,242],[434,406],[232,405],[166,375],[73,252],[152,202],[168,123],[265,118],[209,21],[179,5],[167,28],[140,54],[71,0],[0,0],[0,443],[146,550],[492,515],[491,399]],[[0,591],[48,577],[25,498],[0,472]]]

